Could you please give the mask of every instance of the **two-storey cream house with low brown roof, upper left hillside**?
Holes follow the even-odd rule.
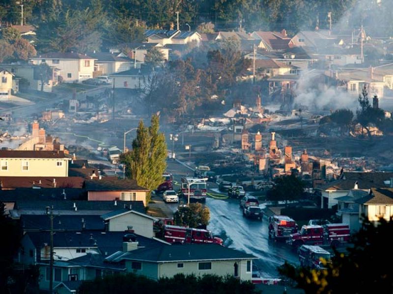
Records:
[[[30,58],[32,64],[46,63],[59,69],[66,83],[82,82],[93,77],[95,58],[76,52],[50,52]]]

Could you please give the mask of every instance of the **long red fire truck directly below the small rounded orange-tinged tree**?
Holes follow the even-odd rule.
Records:
[[[168,243],[216,243],[223,245],[223,239],[213,237],[208,230],[186,228],[177,225],[166,225],[164,227],[164,240]]]

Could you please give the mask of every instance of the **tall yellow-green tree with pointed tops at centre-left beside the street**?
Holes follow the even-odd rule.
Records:
[[[163,182],[166,158],[167,144],[164,134],[159,132],[158,116],[152,116],[150,127],[145,127],[143,121],[140,121],[132,150],[123,153],[120,161],[126,166],[127,177],[135,179],[138,185],[149,190],[146,203],[150,201],[151,191]]]

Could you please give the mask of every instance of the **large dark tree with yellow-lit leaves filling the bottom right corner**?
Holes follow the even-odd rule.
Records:
[[[391,245],[386,236],[393,231],[393,221],[381,219],[377,224],[365,220],[363,228],[351,240],[347,254],[336,249],[332,263],[324,262],[326,270],[296,268],[285,263],[279,272],[294,280],[306,294],[330,293],[392,293],[393,262]],[[378,262],[376,265],[375,261]]]

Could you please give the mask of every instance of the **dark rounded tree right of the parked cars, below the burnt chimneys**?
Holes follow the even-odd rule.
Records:
[[[304,192],[305,184],[295,175],[276,177],[275,186],[267,193],[267,198],[272,201],[287,201],[298,199]]]

